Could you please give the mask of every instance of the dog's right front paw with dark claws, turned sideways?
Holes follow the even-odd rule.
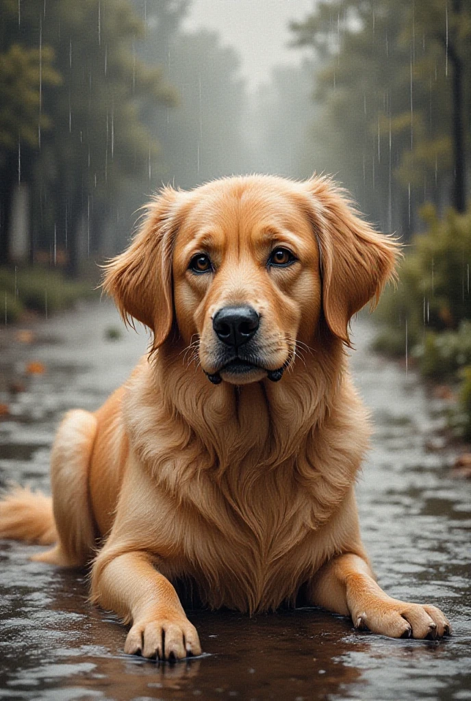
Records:
[[[369,602],[364,610],[353,612],[352,619],[355,628],[390,638],[435,640],[451,634],[448,619],[436,606],[406,604],[397,599]]]

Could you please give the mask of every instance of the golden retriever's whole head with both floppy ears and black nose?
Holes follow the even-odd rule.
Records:
[[[277,381],[320,325],[349,343],[350,318],[378,299],[396,255],[329,179],[233,177],[161,191],[104,288],[153,348],[174,342],[172,327],[196,343],[214,383]]]

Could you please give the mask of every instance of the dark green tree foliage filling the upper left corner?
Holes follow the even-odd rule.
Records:
[[[159,183],[158,133],[142,116],[176,104],[176,93],[137,54],[145,29],[130,0],[0,0],[0,13],[0,195],[18,180],[20,151],[32,248],[57,245],[76,271],[83,219],[91,250],[100,250],[130,179],[142,190],[152,170]]]

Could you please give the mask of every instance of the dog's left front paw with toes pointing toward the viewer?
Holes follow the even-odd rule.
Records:
[[[127,655],[157,660],[182,660],[200,655],[201,646],[196,628],[187,618],[163,616],[136,621],[128,633],[124,651]]]

